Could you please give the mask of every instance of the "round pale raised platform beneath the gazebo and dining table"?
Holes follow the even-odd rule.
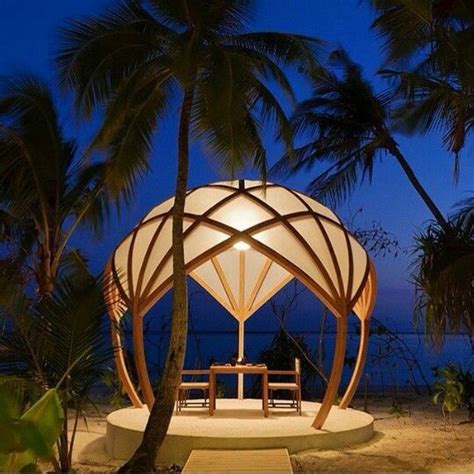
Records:
[[[158,462],[183,465],[193,449],[287,448],[334,449],[372,438],[374,419],[367,413],[331,409],[322,430],[311,427],[320,404],[303,402],[303,413],[271,408],[263,416],[261,400],[218,399],[214,416],[207,408],[184,408],[174,414]],[[128,459],[141,441],[148,409],[123,408],[107,417],[106,449],[114,459]]]

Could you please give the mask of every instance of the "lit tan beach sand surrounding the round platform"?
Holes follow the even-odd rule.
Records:
[[[357,402],[356,402],[356,408]],[[295,472],[431,471],[474,472],[474,424],[460,424],[458,413],[446,424],[429,398],[402,403],[404,412],[390,413],[390,399],[372,399],[375,436],[368,443],[333,451],[306,451],[291,456]],[[88,428],[77,434],[74,467],[81,472],[110,472],[120,462],[104,450],[105,416],[91,412]]]

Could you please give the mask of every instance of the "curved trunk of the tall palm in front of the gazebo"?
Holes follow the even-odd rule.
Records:
[[[173,415],[176,391],[181,382],[188,331],[188,302],[184,262],[183,216],[189,162],[189,122],[193,90],[185,91],[178,136],[178,172],[173,208],[173,313],[165,368],[143,441],[119,472],[156,472],[158,450]]]

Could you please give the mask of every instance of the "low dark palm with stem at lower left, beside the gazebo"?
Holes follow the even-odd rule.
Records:
[[[104,344],[102,284],[84,271],[60,279],[50,294],[41,297],[31,297],[27,289],[8,281],[2,287],[1,386],[14,389],[23,406],[31,405],[38,393],[57,389],[55,397],[65,416],[59,438],[53,440],[58,453],[54,462],[68,471],[77,422],[113,353],[111,345]]]

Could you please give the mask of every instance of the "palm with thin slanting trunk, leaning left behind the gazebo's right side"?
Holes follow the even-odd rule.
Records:
[[[370,179],[376,159],[388,154],[399,163],[436,221],[446,225],[394,138],[393,94],[375,93],[344,51],[333,52],[330,59],[332,69],[315,74],[312,98],[299,104],[292,117],[295,133],[309,136],[309,141],[293,157],[284,156],[274,172],[296,173],[329,162],[329,168],[308,189],[314,197],[337,204],[359,182]]]

